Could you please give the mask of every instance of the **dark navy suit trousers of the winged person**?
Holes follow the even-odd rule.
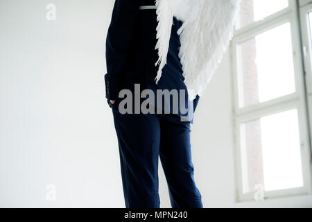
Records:
[[[125,207],[159,208],[160,159],[173,208],[201,208],[191,161],[191,123],[175,114],[121,114],[110,104],[119,144]],[[160,157],[160,158],[159,158]]]

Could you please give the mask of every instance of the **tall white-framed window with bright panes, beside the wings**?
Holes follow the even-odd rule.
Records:
[[[312,30],[312,5],[306,17]],[[254,199],[259,185],[265,198],[311,194],[299,24],[295,0],[241,1],[232,41],[239,201]]]

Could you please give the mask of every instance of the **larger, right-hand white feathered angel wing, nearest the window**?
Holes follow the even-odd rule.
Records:
[[[229,41],[240,0],[197,0],[180,28],[184,83],[190,99],[202,96]]]

